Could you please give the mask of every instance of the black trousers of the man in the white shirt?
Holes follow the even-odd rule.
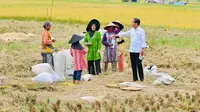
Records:
[[[144,80],[142,60],[139,59],[139,56],[140,56],[139,53],[130,53],[131,66],[132,66],[132,72],[133,72],[133,81],[138,81],[138,73],[139,73],[140,80],[141,81]]]

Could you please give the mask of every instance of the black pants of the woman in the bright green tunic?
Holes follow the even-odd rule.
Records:
[[[101,73],[100,60],[88,61],[88,73],[92,75],[99,75]]]

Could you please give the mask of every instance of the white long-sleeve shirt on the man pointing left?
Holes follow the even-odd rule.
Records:
[[[145,37],[145,31],[141,27],[138,27],[137,29],[130,29],[127,32],[119,33],[119,37],[130,37],[130,48],[129,52],[131,53],[140,53],[142,51],[142,48],[146,47],[146,37]]]

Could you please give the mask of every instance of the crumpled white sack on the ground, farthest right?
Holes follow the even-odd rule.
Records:
[[[169,74],[167,73],[157,73],[157,79],[153,82],[155,85],[160,85],[160,84],[166,84],[170,85],[173,84],[175,81],[174,78],[172,78]]]

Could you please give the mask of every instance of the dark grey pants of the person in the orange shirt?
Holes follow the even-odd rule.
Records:
[[[41,53],[41,55],[42,55],[42,63],[49,63],[52,67],[54,67],[52,53]]]

